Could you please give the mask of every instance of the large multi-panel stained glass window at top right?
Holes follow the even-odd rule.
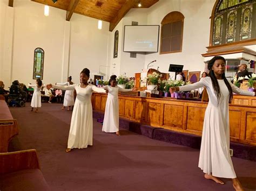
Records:
[[[256,38],[255,14],[256,0],[217,1],[211,17],[210,46]]]

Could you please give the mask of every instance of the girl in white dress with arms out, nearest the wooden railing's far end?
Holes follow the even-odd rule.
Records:
[[[109,80],[109,86],[103,87],[108,91],[108,94],[102,131],[107,133],[116,132],[116,135],[120,135],[118,91],[132,91],[132,89],[123,89],[116,86],[116,78],[116,75],[112,75]]]

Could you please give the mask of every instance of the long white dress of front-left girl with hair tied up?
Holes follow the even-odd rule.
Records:
[[[88,84],[81,88],[80,84],[70,86],[52,86],[62,90],[76,90],[77,98],[72,112],[68,148],[86,148],[92,145],[92,91],[105,93],[102,88]]]

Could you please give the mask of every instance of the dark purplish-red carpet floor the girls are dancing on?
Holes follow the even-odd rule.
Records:
[[[205,180],[197,167],[199,150],[153,140],[121,130],[122,136],[103,133],[93,121],[93,146],[65,152],[71,111],[61,104],[43,103],[38,113],[10,108],[19,135],[9,150],[35,148],[42,172],[52,190],[233,190]],[[246,190],[256,190],[256,162],[233,158]]]

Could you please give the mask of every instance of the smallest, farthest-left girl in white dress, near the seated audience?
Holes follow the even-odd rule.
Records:
[[[29,84],[30,87],[33,87],[34,92],[31,100],[31,111],[33,111],[33,108],[36,108],[35,112],[38,112],[38,108],[41,108],[41,88],[43,87],[43,82],[40,79],[36,80],[36,84],[32,85]]]

